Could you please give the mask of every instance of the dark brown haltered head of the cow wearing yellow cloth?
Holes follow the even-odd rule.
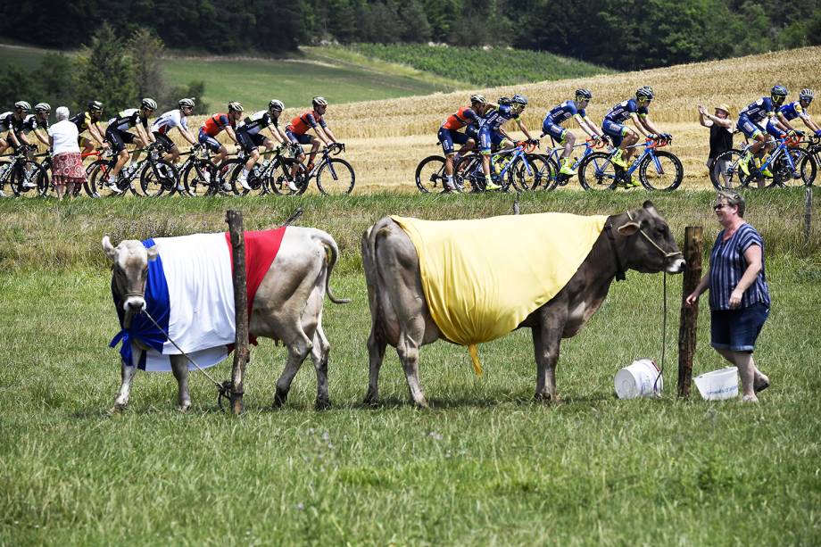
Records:
[[[641,209],[618,215],[613,224],[625,238],[626,268],[644,273],[662,269],[671,274],[684,271],[684,257],[678,250],[676,239],[651,201],[644,202]]]

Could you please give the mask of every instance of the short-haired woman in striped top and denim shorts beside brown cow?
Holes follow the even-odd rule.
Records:
[[[758,402],[756,394],[769,378],[752,359],[756,339],[770,309],[764,273],[764,240],[744,221],[744,198],[736,192],[719,192],[713,210],[724,228],[709,254],[709,271],[687,296],[695,305],[709,289],[710,344],[738,367],[743,401]]]

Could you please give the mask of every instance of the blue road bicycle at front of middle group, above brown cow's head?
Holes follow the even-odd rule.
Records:
[[[671,192],[681,185],[684,167],[676,154],[658,150],[670,143],[672,138],[648,138],[643,143],[628,146],[643,146],[644,150],[626,169],[612,162],[612,152],[593,152],[578,166],[578,181],[585,190],[615,190],[627,186],[633,173],[638,171],[639,181],[648,190]]]

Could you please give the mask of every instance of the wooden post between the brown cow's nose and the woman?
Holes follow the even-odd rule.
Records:
[[[682,287],[681,323],[678,327],[678,396],[690,396],[692,357],[695,355],[695,334],[699,319],[698,303],[688,306],[684,299],[701,281],[701,226],[684,229],[684,283]]]

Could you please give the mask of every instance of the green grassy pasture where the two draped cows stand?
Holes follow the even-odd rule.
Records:
[[[710,192],[654,195],[681,239],[717,223]],[[643,195],[560,192],[522,197],[522,212],[615,213]],[[821,412],[814,319],[821,306],[821,228],[803,244],[800,192],[751,193],[748,220],[767,245],[773,310],[756,359],[773,380],[758,406],[676,400],[681,277],[668,279],[665,390],[618,401],[616,371],[659,359],[661,276],[628,273],[585,329],[562,345],[562,402],[532,402],[527,332],[480,352],[426,346],[421,380],[432,409],[414,410],[395,357],[384,404],[360,405],[369,312],[361,231],[386,213],[424,218],[510,211],[509,195],[305,196],[199,200],[0,200],[0,544],[562,544],[821,543]],[[253,352],[247,412],[217,409],[194,374],[194,407],[174,410],[170,375],[140,374],[129,410],[109,415],[119,386],[110,274],[100,239],[225,228],[240,207],[263,228],[302,205],[300,224],[340,244],[328,303],[333,408],[312,410],[310,363],[282,410],[271,410],[285,353]],[[818,211],[816,207],[815,211]],[[696,374],[723,363],[709,349],[702,302]],[[230,365],[214,369],[228,377]]]

